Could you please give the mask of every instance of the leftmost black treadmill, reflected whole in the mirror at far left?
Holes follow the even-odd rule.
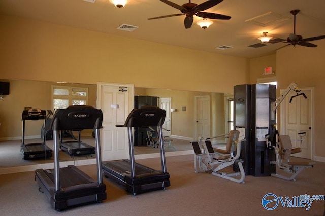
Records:
[[[45,144],[45,137],[42,143],[28,143],[25,144],[25,121],[26,120],[44,120],[46,123],[46,111],[41,109],[24,110],[21,114],[22,120],[22,138],[20,152],[23,154],[24,160],[38,160],[52,157],[52,149]],[[45,128],[43,128],[45,132]]]

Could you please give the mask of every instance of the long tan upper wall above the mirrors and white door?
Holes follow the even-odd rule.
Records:
[[[0,20],[4,79],[232,92],[248,76],[245,58],[5,15]]]

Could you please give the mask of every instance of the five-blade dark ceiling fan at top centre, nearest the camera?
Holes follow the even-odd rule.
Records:
[[[190,28],[193,23],[193,15],[196,15],[198,17],[203,17],[203,18],[208,18],[208,19],[230,19],[230,16],[222,15],[222,14],[215,14],[215,13],[209,13],[209,12],[201,12],[204,10],[207,10],[223,0],[209,0],[204,3],[201,3],[200,5],[191,3],[189,0],[188,3],[185,3],[183,5],[177,5],[173,2],[170,2],[168,0],[160,0],[163,3],[166,3],[169,6],[172,6],[173,8],[176,8],[181,11],[180,14],[172,14],[172,15],[166,15],[166,16],[160,16],[160,17],[153,17],[153,18],[148,18],[149,20],[151,19],[160,19],[160,18],[166,18],[166,17],[173,17],[173,16],[181,16],[181,15],[186,15],[184,19],[184,25],[185,28]]]

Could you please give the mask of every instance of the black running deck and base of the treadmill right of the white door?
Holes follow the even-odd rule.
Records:
[[[169,173],[154,170],[150,167],[135,163],[136,176],[131,177],[131,165],[128,160],[110,161],[102,164],[105,177],[122,185],[125,190],[134,196],[155,190],[165,190],[171,185]]]

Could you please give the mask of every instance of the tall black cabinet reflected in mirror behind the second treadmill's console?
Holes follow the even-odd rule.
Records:
[[[139,109],[143,106],[159,106],[159,97],[155,96],[134,96],[134,108]],[[134,145],[147,146],[146,138],[147,131],[151,131],[148,127],[139,128],[135,127],[134,132]]]

